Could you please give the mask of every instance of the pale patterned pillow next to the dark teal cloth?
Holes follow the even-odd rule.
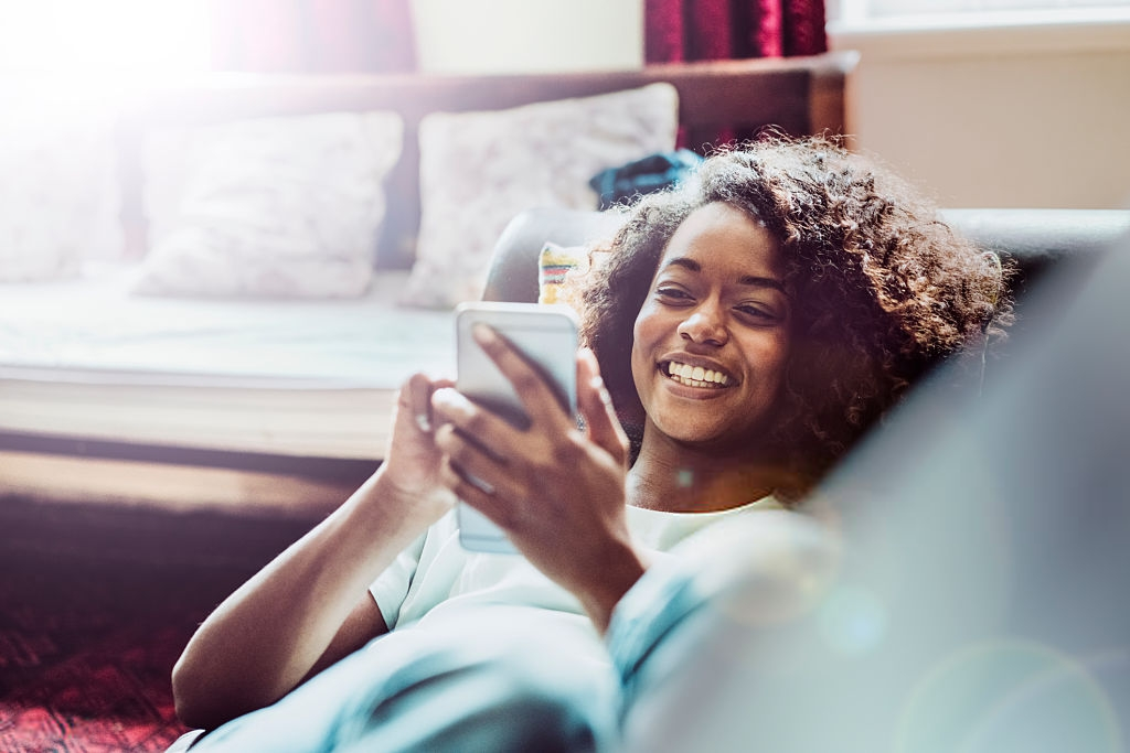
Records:
[[[533,207],[596,209],[589,180],[675,148],[669,84],[420,121],[420,231],[401,303],[452,307],[481,297],[495,240]]]

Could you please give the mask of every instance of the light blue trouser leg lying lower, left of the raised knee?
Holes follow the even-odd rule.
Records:
[[[530,634],[489,610],[478,622],[395,630],[191,750],[612,750],[615,677],[574,660],[572,634]]]

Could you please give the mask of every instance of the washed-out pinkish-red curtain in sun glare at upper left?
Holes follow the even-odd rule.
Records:
[[[410,0],[211,0],[217,70],[411,71]]]

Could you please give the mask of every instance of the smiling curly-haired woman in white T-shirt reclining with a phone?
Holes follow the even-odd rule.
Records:
[[[583,295],[583,428],[490,331],[479,342],[529,429],[450,382],[409,379],[381,469],[185,648],[186,724],[263,709],[194,750],[608,745],[600,637],[660,552],[797,506],[911,384],[1008,317],[999,265],[819,139],[707,159],[693,184],[642,200],[607,251]],[[463,551],[457,498],[525,557]],[[549,655],[559,666],[532,664]],[[506,718],[528,727],[492,724],[516,708]]]

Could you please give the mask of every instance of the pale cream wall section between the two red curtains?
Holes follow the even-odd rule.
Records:
[[[412,0],[421,70],[518,73],[643,64],[643,0]]]

